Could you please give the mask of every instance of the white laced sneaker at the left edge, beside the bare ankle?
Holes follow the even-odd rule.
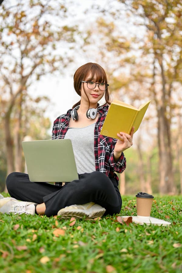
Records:
[[[5,214],[35,214],[35,204],[33,202],[18,201],[12,197],[0,198],[0,212]]]

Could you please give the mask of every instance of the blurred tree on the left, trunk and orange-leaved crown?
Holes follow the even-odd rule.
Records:
[[[45,74],[59,75],[72,60],[69,49],[77,28],[64,24],[64,2],[24,0],[10,6],[6,1],[0,7],[0,107],[7,174],[21,169],[22,109],[26,112],[29,86]]]

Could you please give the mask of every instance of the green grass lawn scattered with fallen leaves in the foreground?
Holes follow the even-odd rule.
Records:
[[[136,197],[122,199],[118,215],[136,215]],[[118,215],[70,226],[55,217],[0,214],[0,272],[181,272],[181,201],[155,197],[151,216],[170,226],[122,225]],[[57,229],[65,234],[56,237]]]

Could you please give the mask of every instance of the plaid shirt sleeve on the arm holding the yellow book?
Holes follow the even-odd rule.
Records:
[[[121,174],[125,168],[126,168],[126,158],[124,156],[124,153],[121,153],[120,158],[118,159],[118,162],[115,162],[114,160],[114,147],[115,147],[116,140],[113,139],[112,145],[111,145],[111,153],[109,157],[109,163],[112,167],[113,171],[116,173]]]

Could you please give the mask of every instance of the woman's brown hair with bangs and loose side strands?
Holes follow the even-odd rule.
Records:
[[[74,73],[74,89],[77,92],[77,94],[79,96],[81,96],[81,81],[85,81],[87,76],[89,75],[89,73],[91,73],[91,77],[90,79],[87,80],[92,80],[94,78],[94,75],[96,75],[96,82],[98,83],[107,83],[107,76],[106,73],[104,71],[104,69],[99,66],[97,63],[93,63],[93,62],[88,62],[86,64],[84,64],[83,66],[79,67],[76,72]],[[83,88],[84,89],[84,88]],[[84,93],[87,96],[87,93],[85,92],[84,89]],[[87,96],[88,98],[88,96]],[[89,99],[88,99],[89,101]],[[109,92],[108,92],[108,88],[105,90],[105,104],[111,104],[110,102],[110,96],[109,96]],[[80,105],[80,101],[78,101],[77,103],[75,103],[72,108],[75,108],[76,106]],[[89,106],[90,106],[90,101],[89,101]]]

